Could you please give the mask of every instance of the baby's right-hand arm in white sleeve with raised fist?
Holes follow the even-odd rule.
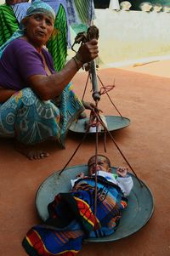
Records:
[[[116,179],[117,185],[121,188],[124,196],[128,196],[133,188],[133,179],[127,174],[128,169],[119,167],[116,169],[118,177]]]

